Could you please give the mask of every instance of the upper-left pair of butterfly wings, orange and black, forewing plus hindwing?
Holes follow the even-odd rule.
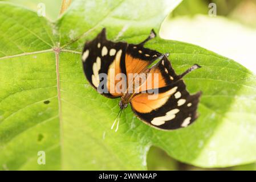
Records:
[[[123,95],[128,86],[128,74],[143,71],[161,53],[144,48],[140,44],[111,42],[106,39],[105,28],[83,49],[83,69],[87,80],[104,96],[116,98]],[[152,30],[155,36],[155,32]],[[124,73],[123,76],[117,76]],[[116,79],[117,78],[117,79]],[[119,85],[117,85],[119,84]]]

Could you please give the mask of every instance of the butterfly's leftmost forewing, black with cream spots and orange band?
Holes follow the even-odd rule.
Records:
[[[125,72],[125,52],[127,43],[111,42],[106,38],[105,28],[90,42],[86,42],[82,62],[84,73],[90,84],[106,97],[120,97],[116,89],[116,75]],[[125,81],[125,80],[124,80]]]

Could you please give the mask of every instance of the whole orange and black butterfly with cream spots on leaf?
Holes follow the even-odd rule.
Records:
[[[182,77],[200,65],[194,64],[177,75],[168,60],[169,53],[144,47],[155,37],[152,30],[139,44],[112,42],[107,40],[103,28],[84,45],[82,63],[88,82],[105,97],[121,97],[120,111],[111,129],[117,121],[117,131],[121,113],[128,104],[141,121],[162,130],[187,127],[198,117],[202,93],[190,95]]]

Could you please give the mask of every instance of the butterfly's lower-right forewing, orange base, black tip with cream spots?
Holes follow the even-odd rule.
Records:
[[[159,89],[159,96],[150,100],[148,93],[140,93],[131,101],[132,110],[151,126],[173,130],[190,125],[197,118],[201,93],[192,96],[182,80]]]

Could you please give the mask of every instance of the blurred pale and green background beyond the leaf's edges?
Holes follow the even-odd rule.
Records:
[[[62,0],[8,2],[35,11],[38,10],[39,3],[44,3],[46,17],[54,21],[58,19]],[[209,15],[210,3],[216,3],[217,16]],[[204,31],[200,31],[202,28]],[[256,73],[256,0],[184,0],[166,17],[160,36],[210,49],[238,61]],[[149,150],[147,163],[149,170],[256,170],[256,163],[229,168],[198,168],[178,162],[156,147]]]

